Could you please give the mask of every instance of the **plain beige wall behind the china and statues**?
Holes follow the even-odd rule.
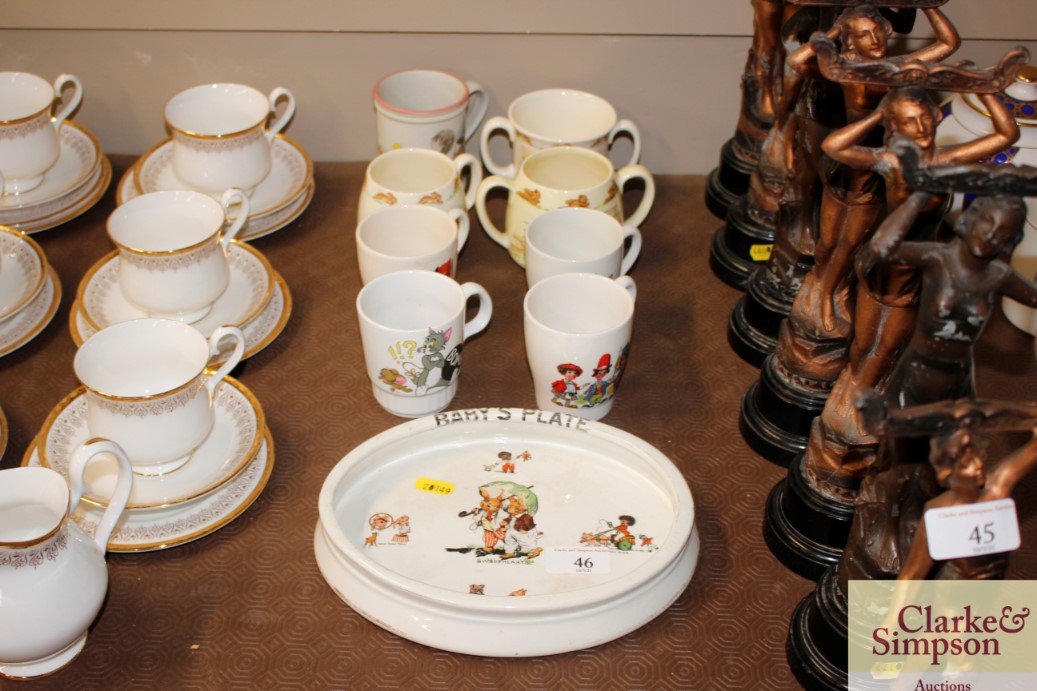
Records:
[[[963,38],[954,59],[988,66],[1024,45],[1037,62],[1034,0],[945,11]],[[180,89],[236,81],[295,92],[287,134],[314,160],[368,160],[374,82],[431,66],[482,83],[487,115],[533,89],[594,91],[638,123],[653,172],[705,173],[734,131],[751,34],[749,0],[0,0],[0,70],[79,76],[75,119],[109,154],[166,136],[163,107]]]

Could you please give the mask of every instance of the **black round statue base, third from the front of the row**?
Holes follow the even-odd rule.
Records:
[[[787,467],[807,448],[810,424],[824,409],[828,393],[793,387],[778,375],[774,359],[767,356],[760,378],[741,397],[738,429],[754,451]]]

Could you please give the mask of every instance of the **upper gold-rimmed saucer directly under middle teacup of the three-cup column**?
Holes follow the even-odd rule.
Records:
[[[236,241],[231,241],[227,249],[230,282],[208,313],[192,324],[206,338],[218,327],[241,327],[262,311],[274,295],[274,269],[259,250]],[[123,297],[119,260],[117,250],[109,252],[80,281],[76,300],[94,329],[149,316]]]

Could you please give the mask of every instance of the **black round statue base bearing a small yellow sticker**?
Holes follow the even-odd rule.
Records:
[[[774,241],[774,225],[754,218],[747,198],[739,197],[728,210],[727,221],[713,233],[709,267],[728,285],[745,289],[749,277],[766,261]]]

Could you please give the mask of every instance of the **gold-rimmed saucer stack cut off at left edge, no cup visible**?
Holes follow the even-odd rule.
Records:
[[[43,331],[60,301],[61,283],[44,250],[24,232],[0,225],[0,357]]]

